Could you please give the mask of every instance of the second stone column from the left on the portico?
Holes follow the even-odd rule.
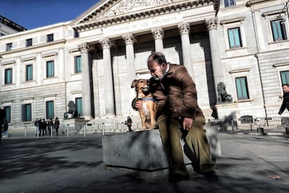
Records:
[[[114,92],[112,82],[112,62],[110,55],[110,48],[112,41],[109,38],[103,38],[101,40],[101,46],[103,48],[103,68],[105,85],[105,112],[106,115],[114,115]]]

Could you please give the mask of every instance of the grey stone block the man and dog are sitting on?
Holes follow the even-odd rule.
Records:
[[[212,158],[221,156],[218,130],[206,130]],[[181,143],[184,146],[184,142]],[[107,166],[144,171],[160,171],[169,167],[158,129],[105,135],[102,145],[103,162]],[[191,164],[185,155],[184,162]]]

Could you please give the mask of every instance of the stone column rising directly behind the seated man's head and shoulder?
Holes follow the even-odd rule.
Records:
[[[188,69],[188,73],[191,74],[193,80],[195,80],[195,74],[193,71],[193,58],[191,52],[191,43],[190,43],[190,24],[189,23],[181,23],[178,24],[179,34],[181,34],[181,50],[183,52],[183,61],[184,66]]]

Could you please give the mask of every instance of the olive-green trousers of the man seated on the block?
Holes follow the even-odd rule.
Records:
[[[191,159],[194,171],[205,173],[215,171],[215,164],[209,150],[209,143],[205,134],[205,119],[195,117],[189,131],[181,128],[178,120],[162,118],[158,120],[161,140],[170,164],[170,175],[179,173],[188,176],[188,170],[184,164],[184,153],[181,138],[184,139],[184,152]]]

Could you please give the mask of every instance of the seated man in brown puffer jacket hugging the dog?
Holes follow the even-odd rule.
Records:
[[[180,139],[194,153],[194,171],[216,179],[215,164],[210,156],[209,143],[203,126],[205,117],[198,106],[195,83],[186,68],[166,62],[161,52],[152,53],[147,61],[151,72],[150,89],[157,101],[157,124],[170,164],[171,183],[188,178]],[[135,101],[135,108],[141,108]],[[182,135],[184,134],[184,135]]]

